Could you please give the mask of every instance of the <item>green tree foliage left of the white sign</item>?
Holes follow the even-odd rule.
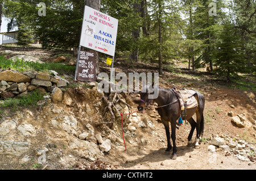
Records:
[[[46,16],[38,15],[41,8],[38,7],[39,2],[46,3]],[[44,48],[70,49],[79,46],[84,1],[7,0],[3,9],[7,18],[15,19],[13,26],[22,31],[22,39],[28,40],[28,30],[33,30],[35,38],[42,41]]]

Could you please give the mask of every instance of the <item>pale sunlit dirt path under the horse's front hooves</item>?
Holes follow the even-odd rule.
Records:
[[[208,145],[201,145],[200,149],[178,146],[179,155],[176,160],[165,155],[163,148],[149,150],[141,156],[127,157],[127,163],[121,163],[123,169],[131,170],[222,170],[246,169],[255,170],[255,163],[243,162],[236,157],[225,157],[224,153],[209,153]]]

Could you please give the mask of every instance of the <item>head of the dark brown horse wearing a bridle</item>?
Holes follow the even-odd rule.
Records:
[[[152,85],[153,86],[153,85]],[[139,95],[141,96],[141,100],[139,100],[139,106],[138,111],[145,112],[145,107],[148,106],[148,104],[151,102],[152,99],[148,99],[150,95],[150,89],[152,89],[152,86],[144,86],[142,91],[139,92]]]

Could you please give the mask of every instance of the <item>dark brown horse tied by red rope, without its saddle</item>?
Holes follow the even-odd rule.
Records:
[[[154,85],[153,85],[154,87]],[[141,101],[139,102],[138,111],[143,111],[145,107],[151,102],[151,100],[154,100],[156,103],[158,103],[157,111],[159,115],[161,116],[162,123],[164,125],[164,128],[166,129],[166,136],[167,136],[167,149],[166,151],[170,151],[172,148],[171,140],[170,140],[170,129],[169,129],[169,122],[171,123],[171,138],[172,143],[174,145],[172,150],[172,159],[176,159],[176,151],[177,147],[175,144],[176,140],[176,121],[179,119],[180,116],[180,104],[179,101],[177,101],[177,95],[175,94],[174,89],[164,89],[162,87],[159,87],[158,91],[158,98],[156,99],[148,99],[148,95],[150,95],[150,91],[148,91],[150,88],[152,90],[152,86],[146,86],[144,87],[144,90],[146,88],[146,91],[143,91],[140,93],[141,95]],[[186,111],[186,119],[191,124],[191,131],[188,135],[188,145],[192,146],[192,135],[196,128],[196,141],[195,141],[195,148],[199,148],[199,138],[203,137],[204,132],[204,103],[205,99],[204,96],[196,91],[196,94],[194,95],[197,100],[197,106],[194,108],[187,108]],[[166,106],[167,105],[167,106]],[[161,107],[162,106],[162,107]],[[196,113],[196,121],[192,118],[192,116]],[[184,120],[184,116],[182,116],[182,119]],[[170,153],[170,152],[167,152]]]

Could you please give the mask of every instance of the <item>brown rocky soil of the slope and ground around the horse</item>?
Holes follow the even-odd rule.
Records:
[[[19,52],[19,49],[15,51]],[[47,52],[41,49],[21,52],[31,54],[31,51],[34,51],[32,54],[35,57],[43,55],[44,59],[41,60],[47,60]],[[56,58],[52,57],[52,61]],[[104,62],[100,66],[104,71],[109,71],[109,66]],[[134,70],[125,61],[117,60],[115,71],[155,71],[155,66],[143,63]],[[65,78],[70,85],[76,86],[60,89],[58,95],[54,95],[55,91],[49,91],[37,108],[20,107],[18,111],[13,111],[11,108],[0,107],[0,169],[254,170],[255,92],[213,83],[208,81],[209,76],[203,74],[195,77],[164,71],[160,77],[161,87],[175,85],[177,89],[196,89],[206,99],[205,131],[200,148],[186,146],[190,125],[181,125],[176,131],[176,160],[164,154],[166,134],[154,108],[149,106],[144,114],[136,112],[123,116],[127,147],[123,151],[125,146],[119,112],[129,113],[129,108],[119,102],[116,106],[119,112],[113,110],[115,121],[111,123],[108,111],[102,116],[106,105],[102,101],[104,95],[97,91],[96,82],[73,82],[72,78]],[[2,92],[15,83],[18,85],[18,82],[2,82]],[[30,85],[26,86],[28,89]],[[46,89],[46,86],[38,86]],[[110,100],[113,96],[109,95]],[[137,102],[134,100],[139,98],[138,94],[125,93],[119,96],[130,105],[131,112],[137,111]]]

